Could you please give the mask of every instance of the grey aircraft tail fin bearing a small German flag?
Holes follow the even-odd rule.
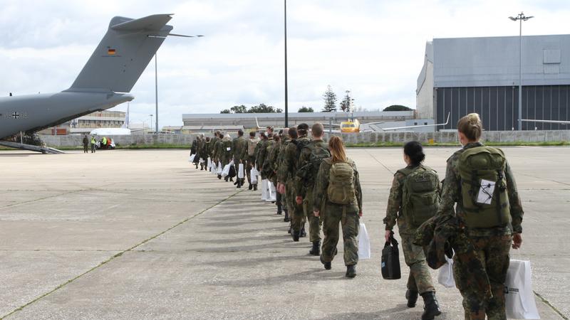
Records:
[[[115,16],[69,91],[130,92],[172,30],[171,14]]]

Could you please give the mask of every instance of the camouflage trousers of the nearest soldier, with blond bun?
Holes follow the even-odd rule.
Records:
[[[453,277],[457,289],[463,297],[465,319],[507,319],[504,311],[504,281],[509,269],[509,251],[511,235],[495,235],[489,237],[470,237],[475,246],[477,258],[482,262],[491,284],[492,298],[482,299],[475,291],[476,285],[470,283],[473,279],[469,262],[453,259]]]

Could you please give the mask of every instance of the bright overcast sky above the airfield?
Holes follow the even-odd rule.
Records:
[[[570,33],[568,0],[289,0],[289,110],[323,107],[327,85],[356,107],[415,107],[425,42],[518,35],[507,17],[536,16],[525,35]],[[283,0],[0,0],[0,94],[68,88],[113,16],[175,14],[158,51],[160,126],[233,105],[284,108]],[[131,92],[131,121],[155,113],[154,63]],[[126,110],[126,105],[114,110]]]

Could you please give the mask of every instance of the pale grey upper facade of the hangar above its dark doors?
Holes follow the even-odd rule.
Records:
[[[430,58],[434,87],[519,85],[519,36],[435,38]],[[523,36],[522,73],[523,85],[570,85],[570,35]]]

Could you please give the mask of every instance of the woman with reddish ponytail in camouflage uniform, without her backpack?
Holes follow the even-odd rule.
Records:
[[[346,277],[356,277],[356,264],[358,263],[358,225],[362,216],[362,190],[358,178],[356,164],[346,157],[343,141],[340,137],[332,137],[328,142],[331,158],[323,160],[318,169],[314,188],[313,211],[316,217],[323,214],[323,247],[321,263],[326,270],[331,269],[331,262],[336,255],[338,243],[338,223],[341,223],[344,241],[344,264]],[[337,204],[328,198],[328,187],[331,181],[331,168],[333,165],[344,163],[351,166],[353,171],[352,185],[353,198],[350,204]],[[322,208],[322,210],[321,210]]]

